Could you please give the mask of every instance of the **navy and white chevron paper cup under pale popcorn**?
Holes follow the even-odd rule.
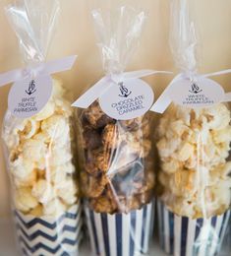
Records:
[[[24,256],[77,255],[82,239],[82,207],[75,205],[58,219],[34,218],[15,211],[17,239]]]

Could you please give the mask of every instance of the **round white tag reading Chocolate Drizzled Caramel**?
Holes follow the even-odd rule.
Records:
[[[113,84],[99,97],[102,110],[116,120],[130,120],[144,115],[154,100],[152,89],[141,79]]]

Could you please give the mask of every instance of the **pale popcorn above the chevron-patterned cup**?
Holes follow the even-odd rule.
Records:
[[[78,201],[73,164],[72,109],[54,80],[53,95],[35,116],[6,114],[3,139],[15,207],[25,215],[56,216]]]

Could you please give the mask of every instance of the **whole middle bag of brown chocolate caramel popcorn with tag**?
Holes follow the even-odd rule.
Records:
[[[124,72],[138,44],[144,12],[94,10],[105,77],[73,105],[80,107],[81,187],[93,255],[144,255],[153,226],[152,90],[143,70]]]

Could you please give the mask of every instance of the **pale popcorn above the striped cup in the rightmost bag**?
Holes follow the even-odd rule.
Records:
[[[231,203],[230,110],[172,105],[160,119],[157,149],[161,200],[189,218],[223,214]]]

